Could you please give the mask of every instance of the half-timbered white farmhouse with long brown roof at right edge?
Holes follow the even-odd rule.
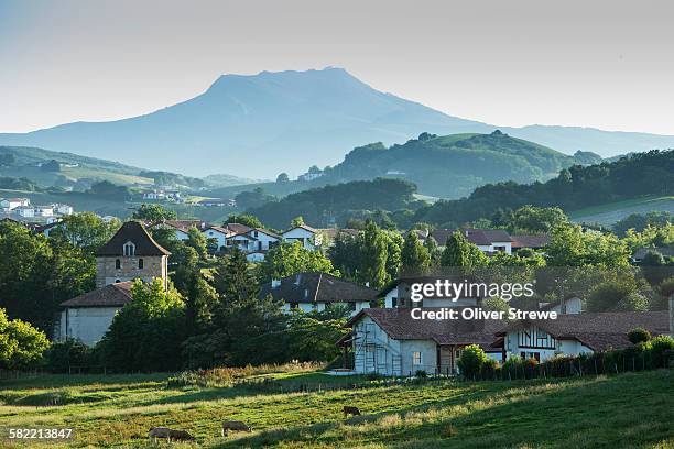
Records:
[[[667,310],[583,313],[557,319],[520,320],[497,332],[509,354],[546,360],[557,354],[578,355],[632,346],[628,332],[635,328],[651,335],[670,330]]]

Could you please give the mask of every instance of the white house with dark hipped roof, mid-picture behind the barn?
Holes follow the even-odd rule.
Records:
[[[298,273],[264,285],[260,297],[267,295],[283,300],[286,313],[293,309],[323,311],[341,306],[355,315],[370,307],[370,303],[377,298],[377,291],[327,273]]]

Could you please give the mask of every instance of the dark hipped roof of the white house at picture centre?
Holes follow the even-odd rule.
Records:
[[[260,297],[271,294],[274,299],[286,303],[350,303],[369,302],[377,297],[377,291],[356,283],[340,280],[327,273],[298,273],[284,277],[272,288],[262,287]]]

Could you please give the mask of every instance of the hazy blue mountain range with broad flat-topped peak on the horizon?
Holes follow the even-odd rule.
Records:
[[[335,164],[344,149],[385,145],[431,132],[489,133],[497,127],[452,117],[373,89],[340,68],[225,75],[204,94],[155,112],[109,122],[76,122],[23,134],[0,145],[31,145],[135,166],[204,176],[296,175],[309,164]],[[500,128],[573,154],[612,156],[674,146],[674,136],[532,125]]]

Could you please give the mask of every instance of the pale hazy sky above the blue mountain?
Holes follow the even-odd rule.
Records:
[[[331,65],[492,124],[674,134],[673,20],[671,0],[0,0],[0,132]]]

